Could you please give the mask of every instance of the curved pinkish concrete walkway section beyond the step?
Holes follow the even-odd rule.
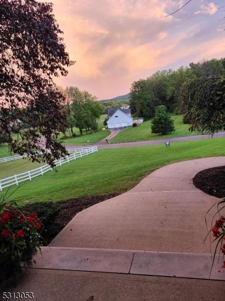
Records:
[[[209,253],[204,215],[218,199],[195,188],[192,178],[221,165],[225,157],[162,167],[130,191],[77,214],[50,245]]]

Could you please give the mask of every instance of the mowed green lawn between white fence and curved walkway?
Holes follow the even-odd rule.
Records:
[[[38,202],[95,194],[119,194],[131,189],[144,176],[161,166],[211,156],[225,156],[225,138],[174,142],[167,148],[164,145],[152,145],[102,149],[58,167],[57,172],[53,170],[24,182],[14,197]]]

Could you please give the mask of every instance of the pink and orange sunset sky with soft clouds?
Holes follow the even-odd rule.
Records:
[[[157,70],[225,56],[224,0],[51,0],[71,60],[62,87],[112,98]]]

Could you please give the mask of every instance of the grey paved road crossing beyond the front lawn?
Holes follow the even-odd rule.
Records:
[[[113,133],[114,136],[117,133]],[[216,137],[225,137],[225,131],[214,134],[214,138]],[[144,145],[155,145],[155,144],[164,144],[165,141],[170,142],[178,142],[178,141],[193,141],[193,140],[201,140],[211,138],[211,135],[193,135],[193,136],[185,136],[185,137],[175,137],[175,138],[166,138],[166,139],[156,139],[156,140],[147,140],[147,141],[135,141],[135,142],[125,142],[125,143],[105,143],[105,139],[99,141],[97,144],[98,149],[103,148],[116,148],[116,147],[130,147],[130,146],[144,146]],[[65,147],[71,147],[77,145],[65,145]],[[79,145],[80,146],[80,145]]]

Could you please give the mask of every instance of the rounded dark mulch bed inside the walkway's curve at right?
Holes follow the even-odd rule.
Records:
[[[196,188],[217,198],[225,197],[225,166],[203,170],[193,178]]]

